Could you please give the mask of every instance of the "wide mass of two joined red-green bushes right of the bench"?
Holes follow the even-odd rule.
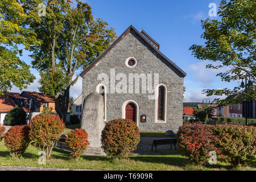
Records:
[[[256,159],[256,127],[242,125],[183,125],[177,133],[179,150],[195,164],[205,164],[215,151],[232,166]]]

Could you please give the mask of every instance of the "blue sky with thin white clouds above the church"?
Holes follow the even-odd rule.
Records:
[[[205,68],[209,61],[197,60],[189,47],[192,44],[204,44],[200,38],[201,19],[212,18],[208,15],[209,3],[220,0],[180,0],[180,1],[118,1],[118,0],[89,0],[94,18],[101,18],[109,22],[117,35],[121,35],[130,24],[137,30],[141,28],[151,38],[160,44],[160,51],[174,61],[187,73],[184,78],[186,88],[184,101],[201,102],[205,96],[201,94],[203,89],[224,88],[237,86],[238,82],[222,82],[216,77],[216,71]],[[214,17],[218,18],[218,17]],[[29,52],[24,52],[22,60],[30,64]],[[28,86],[31,91],[38,91],[39,74],[31,69],[37,77],[33,84]],[[12,90],[19,92],[17,88]],[[71,96],[77,97],[81,93],[81,78],[71,88]],[[213,100],[214,97],[210,97]]]

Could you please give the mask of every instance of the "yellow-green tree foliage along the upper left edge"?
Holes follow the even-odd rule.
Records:
[[[13,86],[27,88],[35,80],[30,66],[20,60],[23,49],[38,44],[30,28],[22,27],[26,18],[22,6],[15,0],[0,2],[0,94]],[[19,47],[18,47],[19,46]]]

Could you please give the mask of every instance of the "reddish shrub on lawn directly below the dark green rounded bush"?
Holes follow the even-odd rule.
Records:
[[[23,155],[28,144],[30,127],[27,125],[11,127],[5,134],[5,146],[10,151],[10,155],[19,158]]]

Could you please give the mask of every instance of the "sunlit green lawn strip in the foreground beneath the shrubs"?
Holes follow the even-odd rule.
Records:
[[[188,159],[181,156],[178,151],[168,150],[151,155],[133,154],[128,159],[109,160],[106,156],[82,156],[79,161],[71,160],[69,152],[54,148],[51,159],[46,165],[38,164],[38,151],[29,146],[20,159],[11,158],[5,144],[0,142],[0,166],[30,166],[73,169],[101,169],[101,170],[229,170],[225,163],[218,162],[214,166],[198,167],[188,164]],[[256,170],[256,166],[239,168],[243,170]]]

